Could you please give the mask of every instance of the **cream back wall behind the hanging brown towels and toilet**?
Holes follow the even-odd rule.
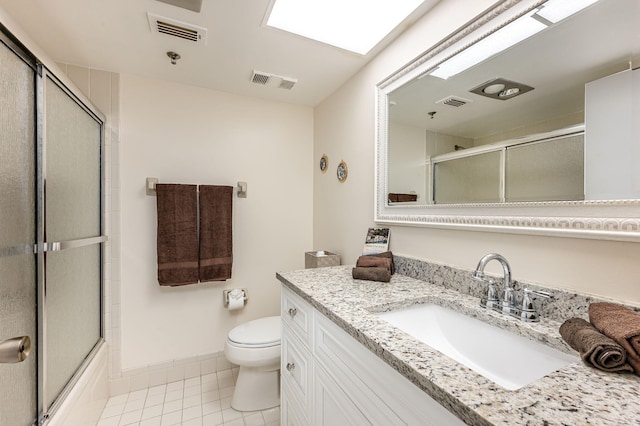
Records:
[[[267,89],[268,90],[268,89]],[[223,350],[240,322],[277,315],[276,271],[304,267],[312,245],[310,108],[121,76],[122,368]],[[163,183],[236,185],[233,277],[224,283],[160,287],[156,199]],[[222,290],[242,287],[249,303],[223,309]]]

